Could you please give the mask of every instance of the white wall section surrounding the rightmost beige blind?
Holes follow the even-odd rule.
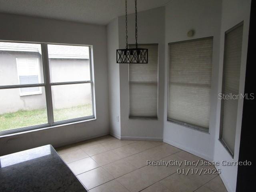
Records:
[[[221,92],[222,87],[222,67],[223,67],[223,54],[224,54],[224,37],[225,32],[235,26],[236,24],[244,21],[243,40],[242,40],[242,57],[241,57],[241,69],[240,69],[240,87],[239,93],[244,93],[244,82],[245,82],[245,71],[246,71],[246,57],[247,57],[247,46],[248,46],[248,34],[249,34],[249,20],[250,20],[250,0],[223,0],[222,1],[222,18],[221,18],[221,36],[220,36],[220,68],[218,78],[218,92]],[[240,147],[240,134],[242,124],[242,106],[243,100],[238,100],[238,113],[236,122],[236,140],[234,158],[230,156],[228,151],[220,143],[219,130],[220,130],[220,100],[217,103],[217,115],[216,115],[216,134],[215,134],[215,150],[214,150],[214,161],[236,161],[239,156]],[[236,191],[236,176],[237,166],[219,166],[222,174],[224,184],[230,192]]]

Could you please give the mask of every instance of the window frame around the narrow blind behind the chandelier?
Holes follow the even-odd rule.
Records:
[[[157,82],[153,82],[153,84],[156,84],[157,85],[157,116],[156,117],[150,117],[150,116],[131,116],[130,115],[130,63],[128,64],[128,86],[129,86],[129,91],[128,91],[128,102],[129,102],[129,107],[128,107],[128,118],[129,120],[158,120],[158,110],[159,110],[159,101],[158,101],[158,92],[159,92],[159,45],[158,43],[141,43],[141,44],[138,44],[138,46],[144,46],[144,45],[156,45],[157,46]],[[128,46],[135,46],[135,44],[128,44]],[[132,83],[136,83],[136,82],[132,82]],[[143,82],[145,84],[152,84],[152,82]],[[138,83],[139,84],[139,83]]]

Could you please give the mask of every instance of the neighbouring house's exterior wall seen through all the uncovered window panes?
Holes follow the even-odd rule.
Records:
[[[0,82],[2,85],[19,84],[16,58],[38,58],[40,68],[40,81],[44,82],[42,71],[42,56],[38,52],[0,51]],[[90,79],[89,59],[50,59],[51,71],[54,72],[53,80],[65,79]],[[71,66],[72,65],[72,66]],[[80,69],[76,73],[75,69]],[[84,73],[85,71],[85,73]],[[83,77],[84,74],[84,77]],[[77,97],[79,95],[79,97]],[[84,86],[55,86],[52,88],[54,108],[68,108],[91,103],[91,89]],[[84,99],[86,98],[86,99]],[[46,108],[45,90],[42,94],[20,96],[20,89],[0,90],[0,114],[22,110]]]

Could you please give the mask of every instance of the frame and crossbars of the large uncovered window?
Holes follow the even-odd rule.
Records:
[[[93,50],[91,45],[81,45],[81,44],[60,44],[60,43],[44,43],[44,42],[24,42],[24,41],[4,41],[1,42],[14,42],[14,43],[30,43],[30,44],[40,44],[41,45],[41,54],[42,54],[42,68],[43,68],[43,76],[44,82],[38,84],[17,84],[17,85],[0,85],[0,90],[2,89],[13,89],[13,88],[27,88],[27,87],[39,87],[42,90],[42,87],[45,88],[45,97],[46,97],[46,111],[47,111],[47,119],[48,123],[27,126],[22,128],[15,128],[12,130],[0,131],[0,136],[4,136],[7,134],[15,134],[19,132],[36,130],[40,128],[51,128],[52,126],[65,125],[69,123],[79,123],[84,120],[94,120],[96,119],[96,111],[95,111],[95,97],[94,97],[94,75],[93,75]],[[73,82],[50,82],[50,68],[49,68],[49,58],[48,58],[48,44],[55,45],[70,45],[70,46],[87,46],[89,48],[89,64],[90,64],[90,80],[86,81],[73,81]],[[79,118],[72,118],[68,120],[62,120],[58,122],[54,122],[53,116],[53,105],[52,105],[52,86],[55,85],[69,85],[69,84],[91,84],[91,97],[92,97],[92,115],[84,116]]]

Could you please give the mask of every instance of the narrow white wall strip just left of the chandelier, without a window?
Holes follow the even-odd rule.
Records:
[[[118,49],[118,18],[107,25],[108,38],[108,82],[110,133],[120,138],[120,78],[119,64],[116,63]]]

